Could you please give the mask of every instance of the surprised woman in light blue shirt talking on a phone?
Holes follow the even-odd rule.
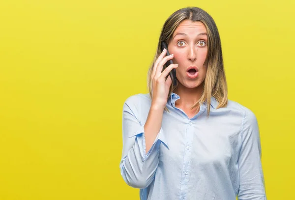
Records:
[[[162,41],[173,55],[161,52]],[[173,68],[176,86],[166,80]],[[266,200],[257,119],[228,100],[220,36],[206,11],[187,7],[167,19],[148,88],[127,98],[122,119],[120,171],[141,200]]]

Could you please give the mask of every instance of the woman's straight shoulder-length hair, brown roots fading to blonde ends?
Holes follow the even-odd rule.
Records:
[[[154,56],[151,66],[148,69],[149,95],[150,98],[152,98],[151,73],[156,59],[161,54],[161,42],[164,41],[168,45],[172,39],[175,29],[177,29],[178,25],[184,20],[202,22],[207,29],[208,50],[207,57],[204,62],[204,65],[207,66],[207,74],[204,80],[203,93],[201,95],[201,98],[191,107],[191,110],[197,108],[198,111],[200,109],[201,103],[207,102],[207,117],[209,117],[211,97],[215,97],[215,99],[219,103],[216,109],[226,107],[228,104],[228,89],[223,66],[219,32],[213,18],[201,8],[185,7],[179,9],[174,12],[164,23],[159,38],[157,52]],[[170,98],[171,93],[175,91],[177,86],[178,82],[176,86],[173,86],[173,84],[170,86],[168,99]],[[167,106],[165,106],[164,110],[169,112]]]

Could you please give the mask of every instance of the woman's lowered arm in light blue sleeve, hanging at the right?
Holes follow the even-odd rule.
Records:
[[[241,137],[242,145],[238,157],[238,200],[266,200],[258,122],[253,112],[247,108]]]

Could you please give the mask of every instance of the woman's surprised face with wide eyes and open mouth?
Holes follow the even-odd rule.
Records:
[[[173,33],[168,51],[174,54],[173,63],[178,64],[178,84],[195,88],[204,82],[207,73],[207,67],[203,66],[207,56],[207,29],[202,22],[182,21]],[[198,72],[188,71],[190,66],[197,67]]]

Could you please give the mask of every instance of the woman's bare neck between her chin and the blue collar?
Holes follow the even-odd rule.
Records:
[[[178,99],[175,104],[179,107],[190,108],[201,98],[202,92],[203,84],[195,88],[187,88],[178,83],[174,93],[176,93],[180,99]]]

